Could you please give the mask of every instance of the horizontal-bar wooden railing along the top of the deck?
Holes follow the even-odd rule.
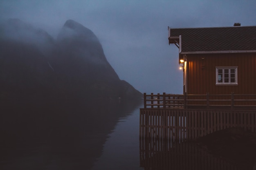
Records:
[[[144,93],[144,108],[253,108],[256,109],[256,94],[225,95],[176,95]]]

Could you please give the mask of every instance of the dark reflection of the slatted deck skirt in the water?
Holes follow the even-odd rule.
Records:
[[[240,170],[195,143],[140,138],[140,167],[145,170]],[[245,167],[243,167],[245,168]]]

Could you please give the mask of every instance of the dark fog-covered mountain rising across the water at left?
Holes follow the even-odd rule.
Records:
[[[141,99],[94,33],[67,20],[56,40],[18,19],[0,24],[0,99]]]

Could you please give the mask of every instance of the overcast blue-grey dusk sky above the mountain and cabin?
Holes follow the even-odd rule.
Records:
[[[54,38],[66,20],[75,20],[99,38],[120,79],[141,93],[182,94],[178,48],[168,45],[168,26],[256,25],[256,0],[0,0],[0,19],[8,18]]]

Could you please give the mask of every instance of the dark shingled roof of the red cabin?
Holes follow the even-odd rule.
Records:
[[[172,37],[181,35],[182,52],[256,50],[256,26],[170,28]]]

